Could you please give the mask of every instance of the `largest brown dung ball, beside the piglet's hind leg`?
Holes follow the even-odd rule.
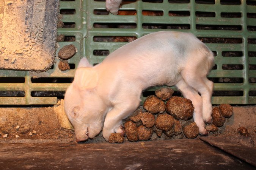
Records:
[[[166,111],[175,119],[186,121],[193,116],[194,107],[191,100],[173,96],[166,102]]]

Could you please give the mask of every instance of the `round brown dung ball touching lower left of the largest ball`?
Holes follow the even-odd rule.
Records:
[[[174,125],[173,116],[166,113],[158,114],[155,121],[155,127],[157,127],[160,130],[169,131],[171,130],[171,128],[173,128],[173,125]]]

